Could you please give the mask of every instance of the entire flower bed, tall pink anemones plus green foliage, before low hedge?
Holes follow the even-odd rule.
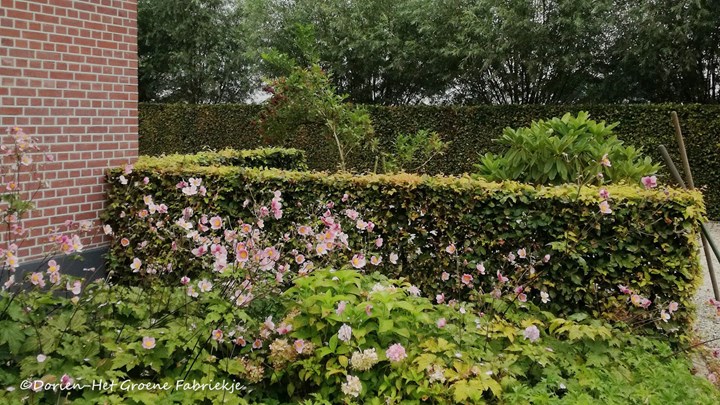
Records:
[[[29,137],[16,132],[14,139],[21,146],[8,154],[8,170],[33,157],[26,151]],[[132,283],[117,284],[113,274],[94,282],[74,278],[49,258],[16,279],[18,249],[8,244],[0,273],[0,400],[713,403],[720,398],[708,381],[691,375],[689,361],[678,352],[683,343],[664,328],[681,317],[684,304],[645,297],[626,283],[612,288],[626,310],[614,324],[584,313],[553,314],[555,286],[538,276],[560,260],[558,254],[508,245],[502,248],[504,267],[488,261],[463,268],[460,245],[448,244],[435,259],[454,261],[456,272],[436,274],[441,290],[431,293],[408,278],[375,272],[383,262],[413,264],[377,250],[392,235],[380,235],[380,222],[369,220],[372,211],[358,207],[361,200],[350,194],[317,201],[304,216],[291,216],[298,209],[291,193],[258,191],[253,199],[237,201],[246,215],[230,217],[208,205],[223,187],[212,176],[152,193],[143,187],[161,181],[162,173],[150,178],[126,166],[114,176],[121,186],[141,191],[137,204],[146,212],[127,211],[126,217],[155,218],[148,221],[155,238],[175,256],[191,254],[197,268],[190,273],[190,267],[157,261],[150,242],[128,243],[124,239],[132,235],[104,224],[102,231],[132,255],[126,275]],[[652,180],[646,179],[646,187]],[[171,195],[182,203],[166,204]],[[4,225],[12,228],[32,201],[21,191],[5,196],[5,217],[16,219]],[[609,196],[602,198],[600,204],[609,204]],[[593,202],[597,209],[600,204]],[[54,236],[57,253],[82,249],[71,231]],[[480,279],[486,282],[476,284]],[[648,325],[657,331],[652,337],[633,333]],[[99,381],[106,385],[93,388]]]

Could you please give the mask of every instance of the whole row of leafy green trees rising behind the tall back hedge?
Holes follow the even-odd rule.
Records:
[[[718,0],[139,0],[140,99],[248,98],[268,49],[366,104],[720,102]]]

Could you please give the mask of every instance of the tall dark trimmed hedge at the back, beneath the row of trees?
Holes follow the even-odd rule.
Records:
[[[253,125],[261,111],[256,105],[140,105],[140,153],[195,153],[203,147],[253,148],[263,144]],[[589,111],[596,120],[619,121],[615,129],[627,145],[642,146],[654,161],[661,162],[658,145],[668,147],[680,169],[670,112],[678,112],[695,184],[703,187],[708,214],[720,219],[720,105],[510,105],[510,106],[368,106],[375,133],[385,150],[399,132],[419,129],[438,131],[450,141],[448,152],[429,163],[431,174],[473,172],[473,165],[486,152],[500,152],[492,142],[505,127],[527,126],[532,120],[562,116],[566,112]],[[303,128],[289,145],[305,150],[308,165],[315,170],[335,168],[337,152],[312,128]],[[357,170],[373,167],[374,154],[359,151],[350,165]],[[662,171],[662,180],[672,182]]]

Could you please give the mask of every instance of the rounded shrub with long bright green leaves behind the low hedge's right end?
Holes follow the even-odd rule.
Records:
[[[532,184],[637,183],[656,173],[659,166],[643,158],[641,149],[623,146],[613,135],[617,124],[606,126],[581,112],[533,121],[517,130],[505,128],[496,141],[507,150],[500,156],[487,153],[478,172],[488,180]]]

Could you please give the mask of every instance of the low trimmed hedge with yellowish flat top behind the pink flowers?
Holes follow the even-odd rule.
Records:
[[[375,232],[385,241],[378,249],[384,258],[379,270],[409,277],[426,294],[454,288],[449,282],[441,285],[443,271],[470,272],[481,282],[492,280],[497,269],[507,264],[508,253],[519,248],[537,257],[551,255],[543,283],[551,294],[551,307],[560,313],[579,309],[612,317],[628,306],[626,296],[618,298],[618,285],[623,284],[653,301],[661,297],[679,302],[683,310],[678,319],[687,321],[691,316],[687,308],[701,281],[697,237],[704,207],[698,192],[610,186],[613,212],[601,215],[595,187],[583,188],[577,195],[576,187],[534,188],[467,176],[330,175],[175,166],[149,158],[140,159],[127,185],[118,180],[120,174],[120,169],[108,173],[104,219],[117,239],[130,241],[128,247],[114,243],[109,260],[116,274],[130,277],[130,263],[140,254],[175,263],[174,268],[182,270],[175,272],[177,277],[197,270],[192,268],[192,255],[182,258],[170,251],[170,241],[137,218],[146,208],[143,196],[151,195],[156,204],[170,207],[170,214],[157,220],[172,224],[188,205],[177,184],[200,177],[208,193],[193,200],[199,204],[195,212],[219,214],[231,223],[252,220],[243,201],[282,191],[283,218],[265,223],[265,231],[274,235],[294,235],[296,224],[306,221],[307,207],[334,201],[338,212],[346,206],[357,209],[376,224]],[[141,182],[145,176],[150,179],[147,185]],[[341,203],[345,193],[348,205]],[[445,253],[451,243],[461,252],[460,260],[484,262],[487,275],[462,264],[458,268],[459,262]],[[387,264],[391,252],[399,253],[400,267]],[[353,253],[357,252],[348,255]]]

